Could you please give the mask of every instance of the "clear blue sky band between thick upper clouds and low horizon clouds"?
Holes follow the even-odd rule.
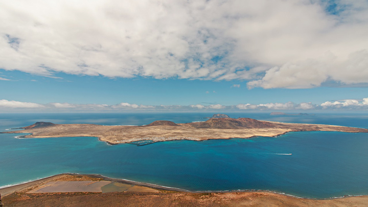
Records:
[[[153,78],[107,78],[65,73],[58,78],[0,70],[9,81],[0,81],[0,96],[5,100],[38,104],[211,105],[302,103],[321,104],[345,99],[361,100],[366,87],[316,87],[305,89],[252,88],[246,81],[212,81]],[[235,86],[234,86],[235,85]],[[239,85],[239,87],[238,87]],[[215,92],[214,92],[215,91]]]

